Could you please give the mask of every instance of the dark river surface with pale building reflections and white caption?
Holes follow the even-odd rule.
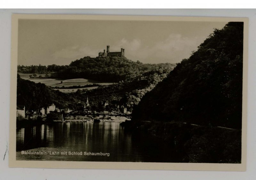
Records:
[[[175,150],[166,143],[145,133],[126,132],[120,122],[56,122],[17,129],[16,136],[17,160],[178,161]],[[46,154],[22,154],[22,151]],[[66,152],[67,155],[63,154]],[[84,155],[84,152],[106,154]]]

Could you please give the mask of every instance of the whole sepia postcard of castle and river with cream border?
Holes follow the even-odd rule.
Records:
[[[245,170],[248,19],[13,22],[11,166]]]

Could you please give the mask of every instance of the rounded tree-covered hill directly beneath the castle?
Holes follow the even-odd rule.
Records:
[[[166,73],[175,65],[166,64],[143,64],[134,62],[125,57],[96,57],[89,56],[72,61],[68,68],[52,74],[52,77],[61,79],[85,78],[104,82],[119,82],[127,78],[141,75],[148,71],[162,71]]]

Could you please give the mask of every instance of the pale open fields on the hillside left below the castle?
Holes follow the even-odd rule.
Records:
[[[44,83],[47,86],[51,86],[51,87],[70,87],[70,86],[84,86],[84,85],[88,85],[88,84],[99,84],[99,85],[109,85],[109,84],[113,84],[113,82],[100,82],[100,81],[95,81],[95,80],[89,80],[89,79],[67,79],[67,80],[61,80],[61,79],[51,79],[51,78],[30,78],[29,75],[33,75],[33,74],[22,74],[20,73],[20,77],[22,79],[26,79],[32,82],[41,82]],[[37,74],[37,77],[41,75],[42,77],[45,77],[45,74]],[[62,81],[62,83],[61,83]],[[77,89],[58,89],[61,92],[76,92],[78,89],[83,90],[83,89],[87,89],[87,90],[91,90],[91,89],[95,89],[98,88],[98,86],[94,86],[94,87],[88,87],[88,88],[77,88]],[[57,89],[55,89],[57,90]]]

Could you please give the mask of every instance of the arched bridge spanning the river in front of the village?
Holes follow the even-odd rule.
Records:
[[[84,115],[102,115],[102,116],[122,116],[122,117],[126,117],[128,119],[131,119],[131,114],[125,114],[122,113],[121,111],[117,111],[117,110],[101,110],[101,111],[97,111],[97,110],[92,110],[91,108],[86,108],[86,109],[81,109],[81,110],[74,110],[71,111],[69,113],[63,113],[63,117],[68,117],[68,116],[84,116]]]

